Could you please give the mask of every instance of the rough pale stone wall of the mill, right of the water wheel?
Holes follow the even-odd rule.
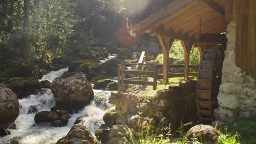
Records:
[[[233,123],[237,118],[251,117],[256,113],[256,81],[236,66],[236,22],[226,29],[228,38],[222,69],[222,85],[214,117],[218,123]],[[256,72],[255,72],[256,73]]]

